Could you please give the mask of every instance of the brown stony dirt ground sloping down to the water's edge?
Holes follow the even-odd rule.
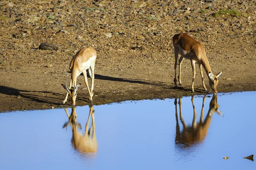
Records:
[[[0,2],[0,112],[62,108],[69,63],[78,50],[97,51],[93,105],[211,94],[197,66],[182,65],[174,88],[173,35],[200,41],[218,92],[256,90],[256,4],[251,0],[9,0]],[[42,42],[58,50],[40,50]],[[90,82],[90,79],[89,79]],[[88,105],[82,76],[76,105]]]

